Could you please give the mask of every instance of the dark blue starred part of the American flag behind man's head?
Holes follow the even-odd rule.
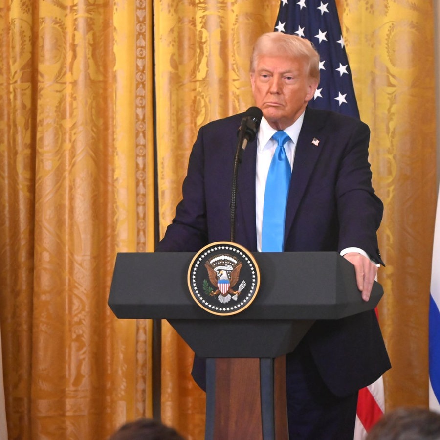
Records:
[[[319,52],[321,80],[308,106],[359,118],[334,0],[281,0],[275,30],[305,37]]]

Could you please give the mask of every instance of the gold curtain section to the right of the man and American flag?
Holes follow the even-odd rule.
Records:
[[[384,202],[379,317],[393,368],[386,408],[428,405],[428,306],[436,207],[432,1],[340,0],[374,186]]]

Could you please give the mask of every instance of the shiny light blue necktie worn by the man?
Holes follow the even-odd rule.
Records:
[[[278,146],[270,162],[266,189],[264,190],[261,250],[263,252],[282,252],[287,194],[292,176],[284,144],[290,138],[286,132],[279,131],[272,136],[272,139],[278,142]]]

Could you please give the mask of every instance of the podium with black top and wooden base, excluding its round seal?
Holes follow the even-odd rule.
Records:
[[[315,320],[371,310],[383,294],[374,283],[370,301],[364,302],[352,264],[336,252],[253,256],[261,274],[259,292],[248,308],[231,316],[211,314],[192,298],[187,278],[193,253],[116,258],[109,296],[114,314],[167,319],[198,356],[208,359],[205,439],[287,438],[284,355]]]

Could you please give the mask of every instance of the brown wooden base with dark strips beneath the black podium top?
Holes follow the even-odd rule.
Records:
[[[207,359],[205,440],[287,440],[285,357]]]

